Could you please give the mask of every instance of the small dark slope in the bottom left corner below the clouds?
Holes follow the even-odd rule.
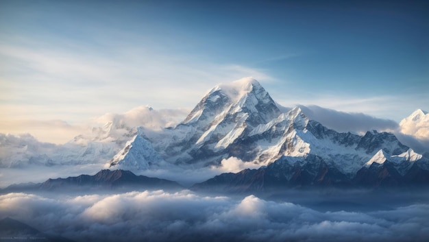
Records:
[[[0,220],[0,237],[1,241],[73,242],[63,237],[45,234],[10,217]]]

